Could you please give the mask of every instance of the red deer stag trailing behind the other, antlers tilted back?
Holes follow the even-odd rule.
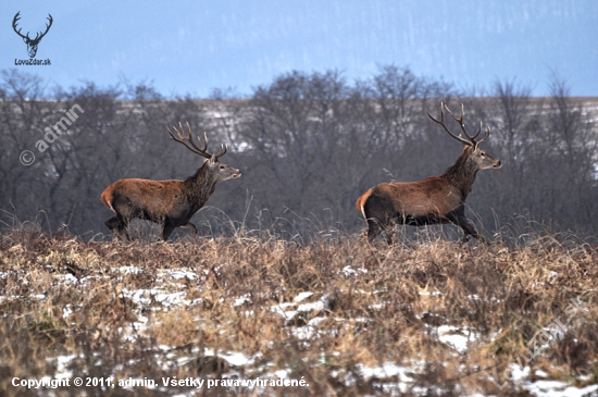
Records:
[[[169,127],[171,138],[183,144],[196,154],[204,157],[203,165],[194,176],[185,181],[149,181],[149,179],[119,179],[102,193],[102,202],[116,213],[105,221],[105,225],[119,237],[130,239],[126,228],[134,218],[152,221],[163,225],[162,238],[166,240],[175,227],[190,228],[194,236],[197,227],[189,222],[191,216],[202,208],[214,193],[216,183],[241,176],[239,170],[233,169],[219,161],[226,153],[226,146],[222,146],[219,154],[210,154],[208,136],[203,134],[205,144],[200,148],[194,141],[191,128],[187,123],[188,135],[173,127],[178,138]],[[200,139],[198,138],[200,144]],[[201,144],[200,144],[201,145]]]

